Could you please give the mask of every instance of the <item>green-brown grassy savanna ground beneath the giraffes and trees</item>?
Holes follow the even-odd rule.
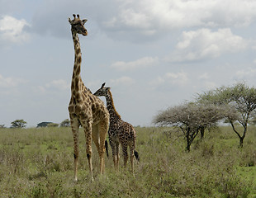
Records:
[[[169,134],[171,128],[135,130],[140,153],[135,177],[130,163],[116,172],[111,156],[101,177],[93,146],[95,181],[81,130],[75,183],[70,128],[0,129],[0,197],[256,197],[255,127],[249,128],[244,148],[225,126],[196,139],[190,153],[183,137]]]

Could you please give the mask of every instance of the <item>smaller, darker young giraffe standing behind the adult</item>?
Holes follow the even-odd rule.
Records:
[[[105,87],[105,82],[102,87],[94,93],[97,97],[106,97],[107,110],[110,114],[110,125],[108,130],[109,142],[112,149],[112,157],[114,162],[114,167],[118,170],[119,163],[119,144],[121,144],[123,156],[124,156],[124,166],[128,160],[127,148],[130,147],[130,164],[132,173],[134,173],[134,162],[133,158],[139,161],[139,153],[135,151],[135,139],[136,132],[130,123],[121,120],[121,115],[118,114],[114,106],[114,101],[110,91],[110,87]]]

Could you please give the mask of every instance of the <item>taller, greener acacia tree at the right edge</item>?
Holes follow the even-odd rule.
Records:
[[[227,114],[226,118],[235,134],[239,137],[239,146],[243,147],[244,138],[248,130],[248,123],[254,116],[256,109],[256,88],[249,87],[244,82],[239,82],[233,87],[220,87],[199,95],[199,102],[208,101],[216,105],[230,106],[236,111],[236,117]],[[243,130],[239,131],[235,122],[242,125]]]

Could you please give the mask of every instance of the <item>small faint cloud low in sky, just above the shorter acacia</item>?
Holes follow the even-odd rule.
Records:
[[[174,86],[185,86],[189,78],[187,77],[187,73],[179,72],[179,73],[165,73],[164,76],[159,76],[158,78],[154,79],[149,84],[152,86],[160,86],[164,83],[170,83]]]

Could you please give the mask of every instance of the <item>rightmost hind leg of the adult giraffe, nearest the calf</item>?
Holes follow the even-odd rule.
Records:
[[[108,130],[108,118],[105,120],[102,120],[99,123],[99,157],[100,157],[100,168],[101,168],[101,174],[103,174],[105,169],[105,163],[104,163],[104,153],[105,153],[105,140],[107,137],[107,130]]]

